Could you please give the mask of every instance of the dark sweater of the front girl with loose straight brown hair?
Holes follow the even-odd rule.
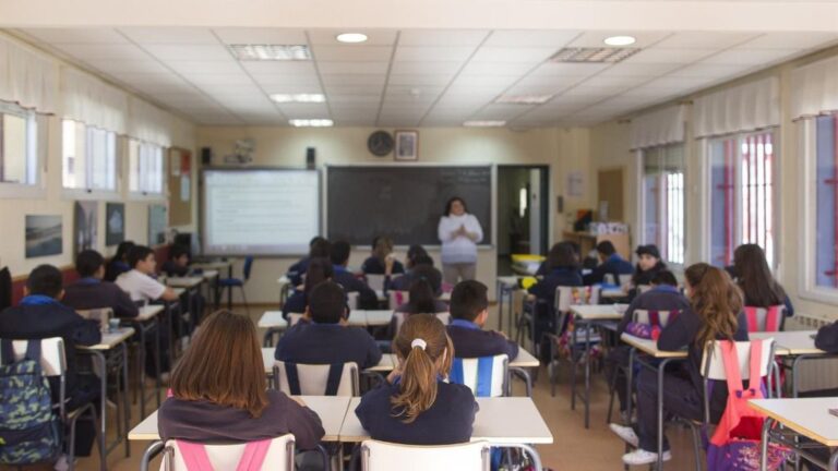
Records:
[[[268,389],[267,407],[258,418],[247,410],[207,400],[166,399],[157,413],[164,440],[178,438],[205,444],[255,442],[294,434],[298,449],[312,449],[325,434],[318,414],[284,392]]]

